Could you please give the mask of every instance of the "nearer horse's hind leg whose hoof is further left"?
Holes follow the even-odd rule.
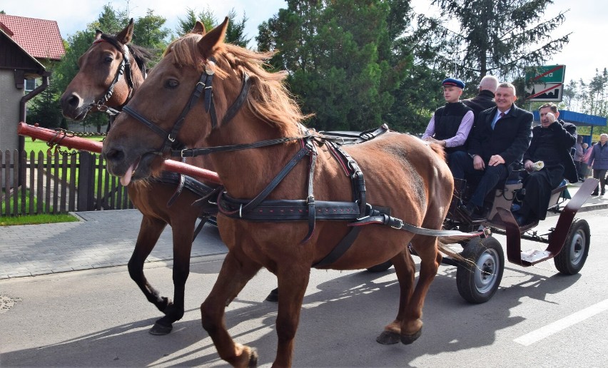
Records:
[[[400,297],[397,317],[387,324],[384,331],[376,338],[380,344],[397,344],[401,339],[401,323],[405,318],[405,308],[410,304],[414,291],[416,267],[410,252],[405,247],[398,255],[392,257],[392,265],[399,281]]]

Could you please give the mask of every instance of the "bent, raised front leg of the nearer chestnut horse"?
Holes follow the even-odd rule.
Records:
[[[258,354],[254,349],[233,341],[226,329],[224,314],[226,306],[245,287],[261,266],[248,260],[245,255],[236,257],[230,250],[224,259],[216,284],[201,304],[203,328],[207,331],[218,354],[233,367],[255,367]]]

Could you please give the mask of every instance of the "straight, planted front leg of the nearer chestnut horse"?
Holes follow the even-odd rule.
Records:
[[[277,355],[273,367],[291,367],[295,332],[300,322],[300,311],[310,267],[281,265],[278,270],[278,313],[276,329],[278,336]]]

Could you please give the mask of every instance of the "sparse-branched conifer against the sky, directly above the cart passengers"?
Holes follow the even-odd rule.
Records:
[[[565,14],[547,17],[552,0],[432,0],[441,19],[453,19],[457,33],[437,24],[437,34],[450,39],[450,48],[437,56],[446,71],[465,81],[493,74],[503,80],[521,77],[526,66],[542,65],[562,50],[569,34],[552,33],[564,23]],[[435,19],[437,21],[437,19]]]

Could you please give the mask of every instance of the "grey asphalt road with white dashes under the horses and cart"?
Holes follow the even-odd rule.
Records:
[[[591,248],[578,275],[563,276],[551,260],[507,264],[489,302],[467,304],[455,267],[440,267],[425,305],[422,337],[380,345],[375,337],[397,312],[392,268],[313,270],[295,343],[295,367],[607,367],[608,210],[579,213],[591,226]],[[553,219],[553,220],[552,220]],[[557,218],[542,223],[539,231]],[[504,245],[504,237],[497,235]],[[523,249],[544,245],[524,242]],[[198,307],[211,290],[223,255],[193,259],[186,315],[167,336],[148,329],[160,317],[124,266],[0,280],[1,367],[225,367],[201,327]],[[146,264],[151,283],[171,295],[170,262]],[[268,367],[275,354],[275,287],[265,270],[227,309],[237,342],[258,349]]]

